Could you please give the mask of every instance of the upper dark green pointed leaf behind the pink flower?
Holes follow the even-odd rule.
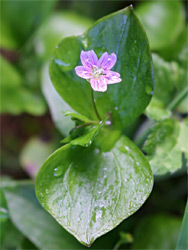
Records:
[[[98,56],[105,51],[117,55],[113,70],[122,82],[95,92],[94,98],[100,117],[110,112],[112,126],[122,129],[146,108],[154,84],[148,41],[134,11],[125,8],[100,19],[83,36],[63,39],[52,56],[50,77],[58,93],[76,112],[95,120],[91,86],[74,71],[81,65],[81,50],[90,49]]]

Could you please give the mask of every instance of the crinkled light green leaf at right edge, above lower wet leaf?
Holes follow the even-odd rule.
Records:
[[[178,122],[165,119],[157,123],[144,145],[144,151],[156,175],[175,172],[182,166],[182,153],[187,154],[188,119]]]

